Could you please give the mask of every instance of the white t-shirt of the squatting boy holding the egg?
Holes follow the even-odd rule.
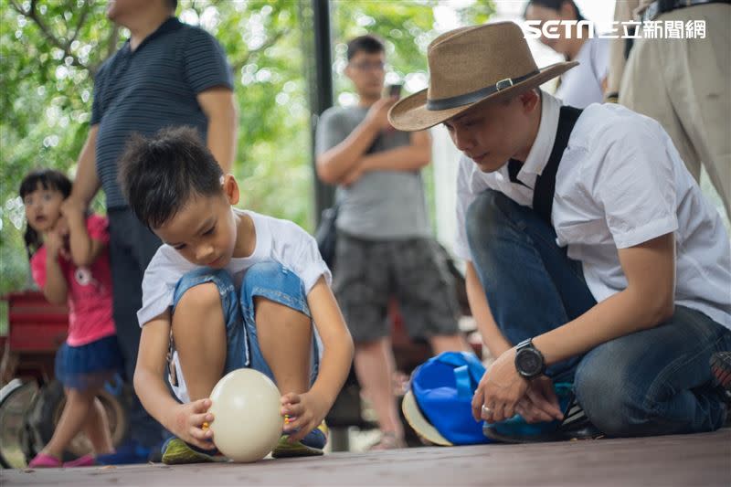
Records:
[[[305,293],[324,276],[328,285],[332,276],[314,238],[302,228],[288,220],[266,217],[253,211],[236,210],[251,217],[256,232],[256,248],[249,257],[231,259],[226,270],[233,277],[237,291],[249,267],[259,262],[276,261],[291,270],[304,283]],[[175,285],[186,272],[196,266],[187,261],[180,253],[163,245],[157,249],[150,265],[144,271],[143,307],[137,312],[140,326],[173,305]]]

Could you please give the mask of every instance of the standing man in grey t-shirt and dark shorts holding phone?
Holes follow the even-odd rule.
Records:
[[[385,52],[374,36],[348,43],[345,75],[359,102],[325,111],[316,137],[317,174],[338,185],[333,289],[355,342],[355,373],[383,432],[376,450],[404,446],[391,383],[391,298],[408,333],[428,340],[435,353],[469,349],[458,332],[447,262],[429,228],[421,177],[431,159],[429,132],[399,132],[388,123],[400,85],[382,96]]]

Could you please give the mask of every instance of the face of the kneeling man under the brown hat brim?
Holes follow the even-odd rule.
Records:
[[[447,122],[452,143],[483,173],[497,171],[523,154],[530,141],[531,114],[540,102],[534,90],[511,101],[478,105]],[[528,147],[530,150],[530,147]]]

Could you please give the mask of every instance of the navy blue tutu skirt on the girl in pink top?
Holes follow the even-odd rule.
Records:
[[[81,346],[63,344],[56,353],[56,378],[71,389],[101,387],[122,366],[122,350],[114,335]]]

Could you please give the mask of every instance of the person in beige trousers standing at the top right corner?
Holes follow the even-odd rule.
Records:
[[[608,100],[660,122],[695,181],[703,165],[731,218],[731,1],[619,0],[614,19],[663,30],[611,40]]]

